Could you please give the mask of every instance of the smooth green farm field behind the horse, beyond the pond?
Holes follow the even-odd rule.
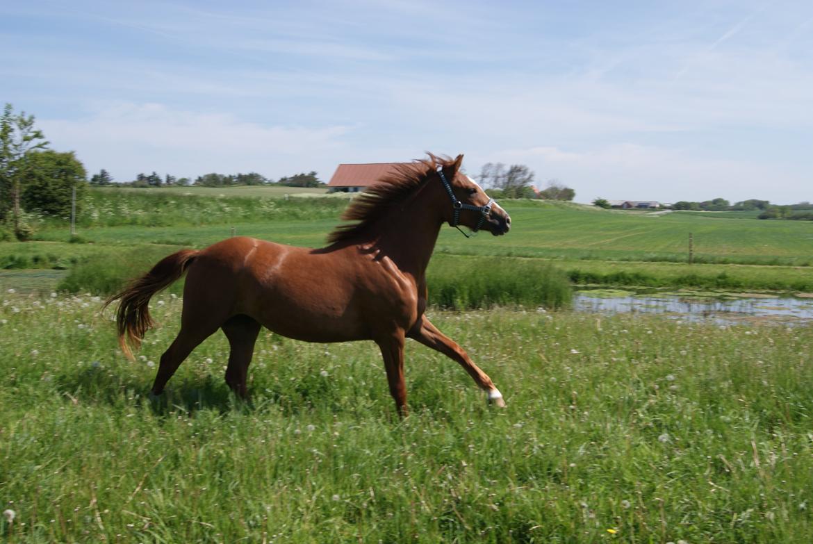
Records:
[[[233,233],[318,247],[346,206],[337,198],[285,200],[241,193],[273,188],[224,188],[227,198],[195,196],[198,189],[192,196],[179,196],[180,189],[93,190],[77,237],[68,235],[64,222],[46,220],[37,241],[0,243],[0,268],[76,268],[88,259],[119,260],[131,248],[157,260]],[[578,284],[813,290],[813,222],[721,216],[735,212],[652,215],[569,203],[504,204],[514,225],[508,236],[482,233],[469,240],[444,228],[436,253],[554,263]],[[693,265],[686,263],[689,233]]]

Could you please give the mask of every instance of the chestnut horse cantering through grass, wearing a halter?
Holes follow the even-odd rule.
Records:
[[[457,361],[489,403],[505,406],[489,376],[424,315],[426,267],[442,224],[494,236],[511,228],[506,211],[459,172],[462,161],[462,154],[454,160],[428,154],[402,165],[350,203],[342,219],[356,223],[334,230],[322,249],[233,237],[169,255],[107,301],[120,301],[122,350],[133,358],[128,342],[140,346],[153,325],[150,298],[186,272],[180,333],[161,356],[153,394],[195,346],[223,329],[231,348],[226,383],[246,397],[246,372],[264,326],[307,342],[376,342],[401,415],[407,337]]]

